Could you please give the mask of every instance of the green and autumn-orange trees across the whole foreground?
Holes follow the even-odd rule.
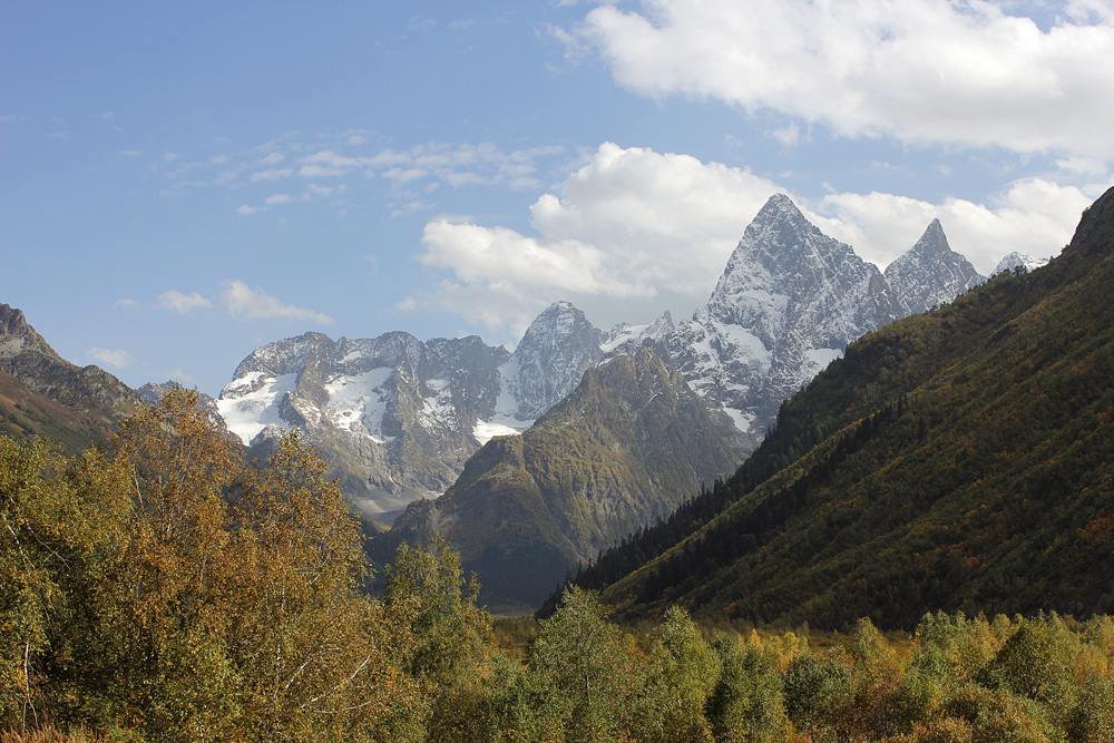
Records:
[[[436,536],[372,595],[320,457],[245,462],[195,402],[72,458],[0,437],[0,740],[1114,740],[1106,616],[633,628],[571,587],[518,644]]]

